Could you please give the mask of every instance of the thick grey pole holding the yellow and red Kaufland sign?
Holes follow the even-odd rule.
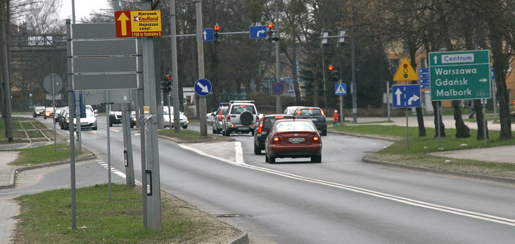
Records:
[[[148,10],[151,2],[141,0],[141,9]],[[161,231],[161,180],[159,175],[159,146],[157,141],[157,100],[156,77],[154,65],[154,39],[143,37],[141,40],[143,49],[143,93],[144,105],[150,109],[145,114],[145,177],[149,181],[143,186],[147,194],[147,225],[148,229]]]

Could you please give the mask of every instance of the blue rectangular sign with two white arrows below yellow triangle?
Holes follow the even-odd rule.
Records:
[[[393,107],[421,107],[420,85],[393,85]]]

